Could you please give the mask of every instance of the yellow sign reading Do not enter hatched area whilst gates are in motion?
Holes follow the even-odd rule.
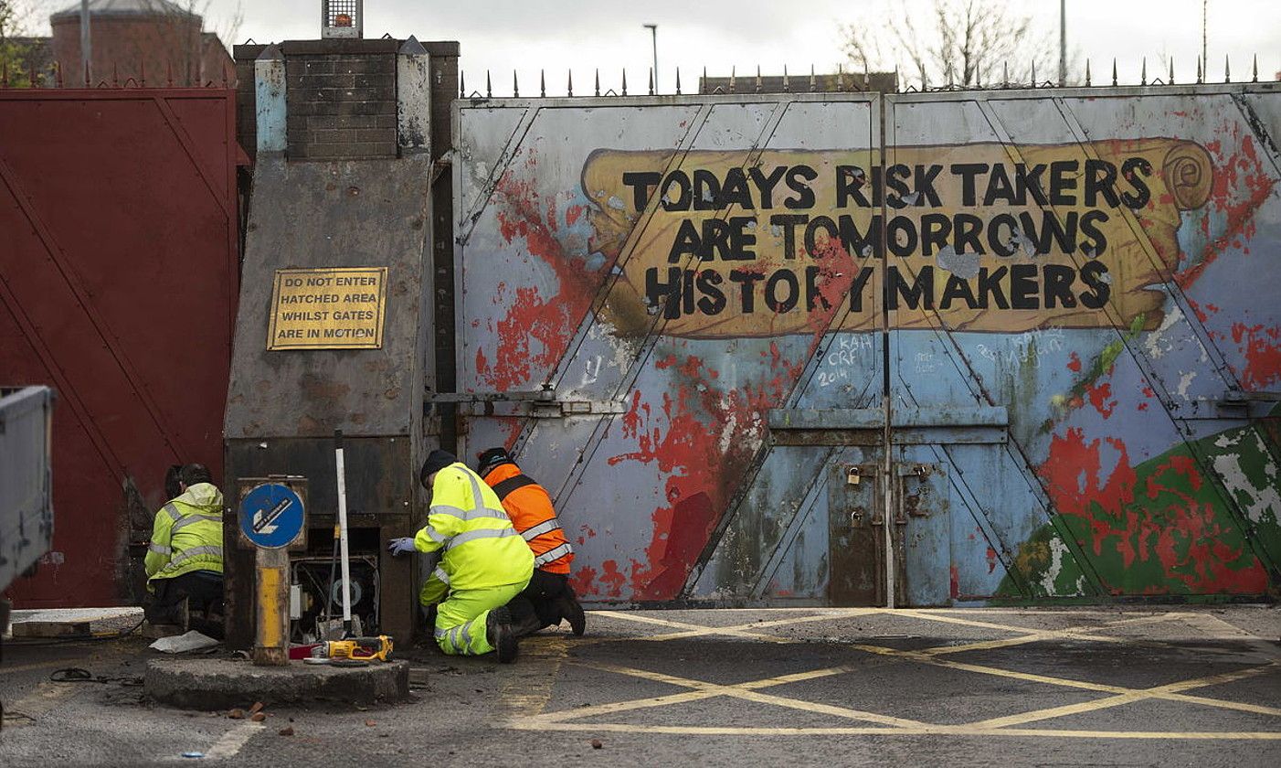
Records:
[[[386,267],[277,269],[266,349],[380,349]]]

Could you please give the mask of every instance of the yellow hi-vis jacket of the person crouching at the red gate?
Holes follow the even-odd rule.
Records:
[[[223,572],[223,494],[200,482],[160,508],[143,560],[147,580]]]

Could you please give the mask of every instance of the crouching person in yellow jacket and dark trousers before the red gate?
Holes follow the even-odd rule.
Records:
[[[222,622],[209,617],[223,612],[223,494],[201,464],[172,467],[165,486],[179,492],[151,527],[143,567],[155,600],[145,615],[152,624],[178,624],[220,640]]]

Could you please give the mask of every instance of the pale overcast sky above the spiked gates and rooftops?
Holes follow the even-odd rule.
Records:
[[[990,1],[990,0],[981,0]],[[178,0],[187,5],[191,0]],[[31,27],[47,31],[49,12],[69,0],[27,0]],[[468,91],[483,87],[491,71],[496,95],[510,95],[512,71],[521,92],[537,92],[539,71],[547,73],[548,95],[564,94],[574,71],[575,92],[591,87],[601,71],[602,88],[617,87],[628,71],[632,92],[643,88],[652,63],[652,37],[643,24],[657,24],[660,90],[673,92],[675,71],[681,85],[696,86],[703,67],[711,76],[835,72],[848,60],[843,29],[883,29],[911,14],[927,18],[934,0],[366,0],[365,36],[418,36],[457,40]],[[1084,68],[1090,60],[1094,82],[1111,77],[1116,58],[1121,82],[1138,83],[1143,58],[1157,77],[1172,56],[1179,82],[1195,78],[1202,46],[1203,0],[1066,0],[1068,49]],[[1258,54],[1259,78],[1281,71],[1281,0],[1207,0],[1209,79],[1222,81],[1223,58],[1231,55],[1232,79],[1248,79]],[[1007,0],[1016,14],[1031,15],[1047,40],[1058,36],[1058,0]],[[319,0],[195,0],[205,28],[225,41],[237,13],[233,42],[310,40],[319,36]],[[893,69],[894,62],[884,62]],[[901,62],[906,64],[906,62]],[[1013,68],[1013,65],[1012,65]],[[1047,72],[1047,77],[1053,73]],[[1040,79],[1040,77],[1039,77]]]

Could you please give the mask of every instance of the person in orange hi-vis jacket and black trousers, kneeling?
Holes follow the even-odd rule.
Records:
[[[511,454],[501,447],[491,447],[480,454],[477,474],[493,488],[502,508],[507,510],[512,527],[534,553],[534,576],[529,580],[529,586],[509,604],[516,633],[537,632],[565,619],[575,635],[582,635],[587,628],[587,618],[569,585],[574,547],[556,519],[551,496],[543,486],[524,474]]]

